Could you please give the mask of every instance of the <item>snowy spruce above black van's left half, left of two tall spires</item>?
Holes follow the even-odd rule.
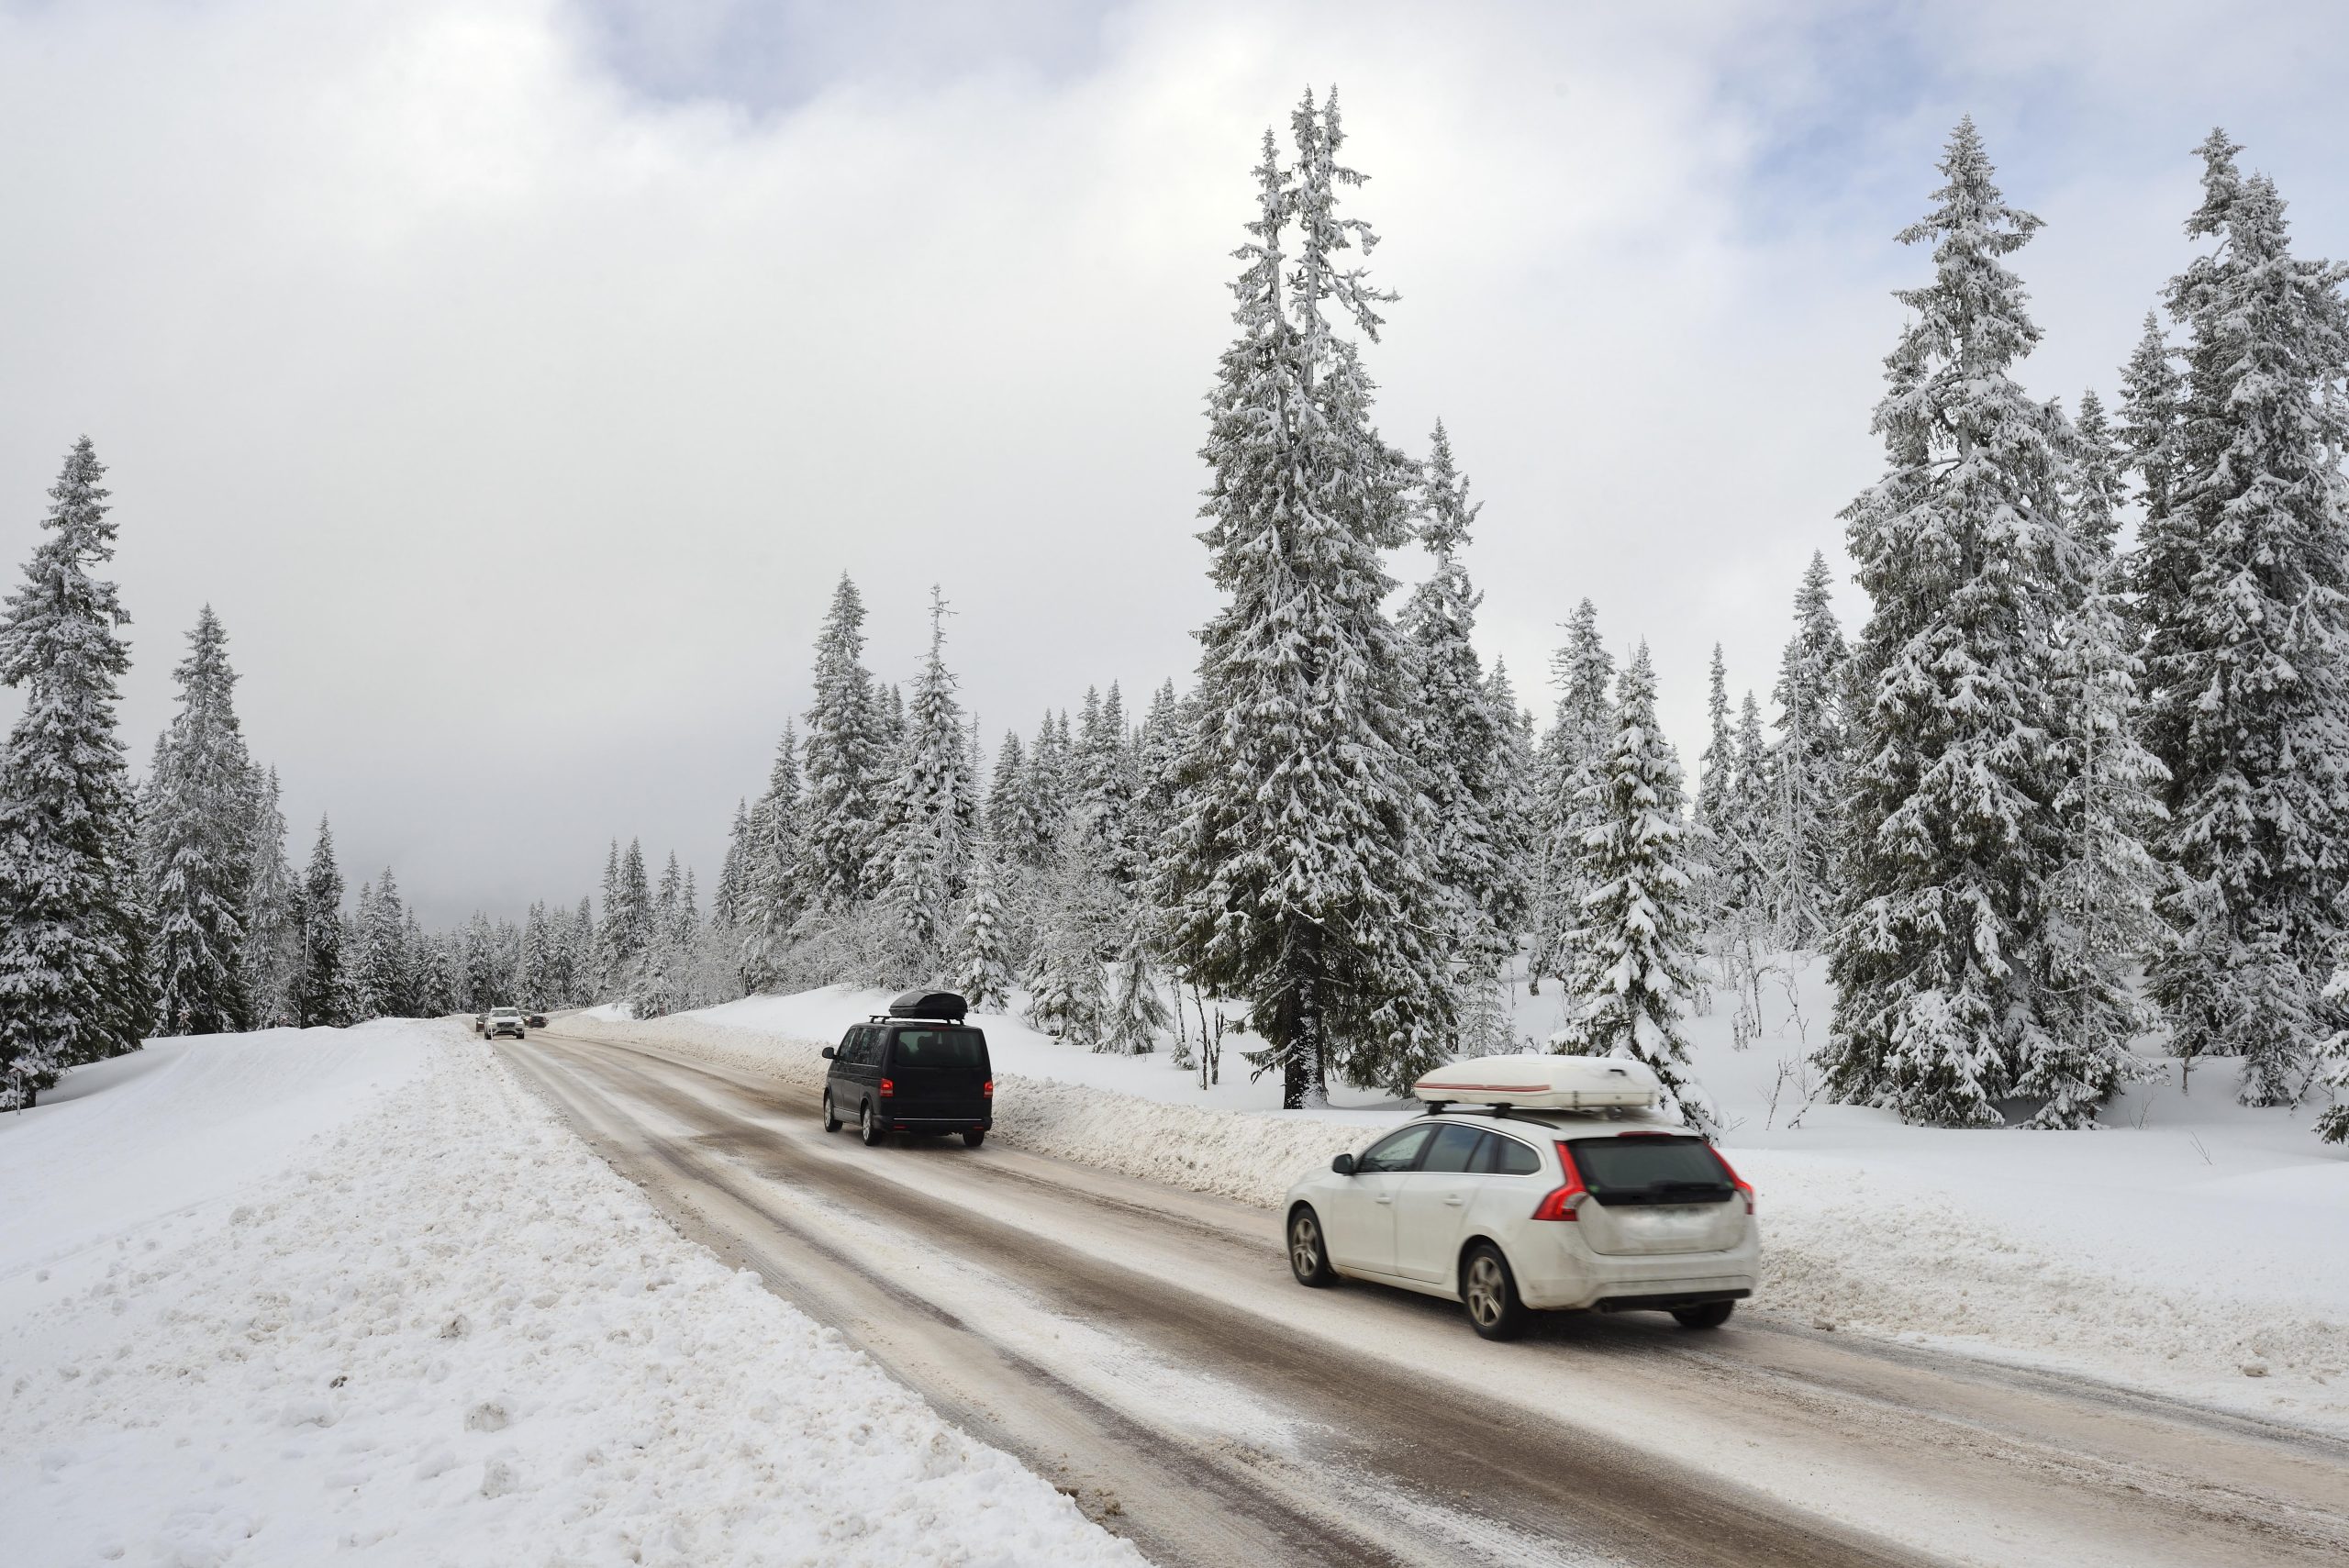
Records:
[[[806,864],[813,897],[829,911],[871,892],[876,824],[890,763],[886,702],[864,664],[864,601],[841,573],[815,636],[815,702],[806,739]]]

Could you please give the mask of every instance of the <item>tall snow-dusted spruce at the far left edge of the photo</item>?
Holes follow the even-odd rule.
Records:
[[[23,692],[0,751],[0,1108],[153,1026],[139,826],[115,683],[129,622],[113,582],[106,467],[82,437],[49,488],[42,540],[0,610],[0,685]]]

